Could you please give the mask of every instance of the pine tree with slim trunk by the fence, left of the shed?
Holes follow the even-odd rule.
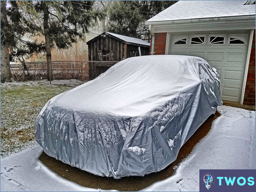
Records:
[[[102,14],[93,10],[94,1],[20,1],[25,14],[45,38],[48,80],[52,79],[51,49],[67,49],[97,23]]]

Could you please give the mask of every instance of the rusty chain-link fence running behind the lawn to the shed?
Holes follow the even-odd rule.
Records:
[[[116,61],[52,61],[52,77],[47,79],[47,62],[27,62],[12,64],[13,79],[21,81],[39,81],[46,84],[79,86],[104,73],[116,64]],[[89,77],[93,74],[93,77]],[[92,76],[92,75],[91,75]]]

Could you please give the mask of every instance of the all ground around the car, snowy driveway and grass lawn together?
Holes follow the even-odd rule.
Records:
[[[81,171],[42,153],[33,136],[43,105],[71,88],[32,84],[1,86],[1,191],[198,191],[199,169],[255,169],[255,111],[223,105],[161,172],[114,180]]]

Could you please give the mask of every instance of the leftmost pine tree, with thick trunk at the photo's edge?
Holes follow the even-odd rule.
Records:
[[[26,33],[35,35],[35,27],[22,14],[18,1],[1,1],[1,83],[11,80],[10,59],[23,59],[43,50],[42,43],[23,39]],[[25,62],[22,64],[24,70]]]

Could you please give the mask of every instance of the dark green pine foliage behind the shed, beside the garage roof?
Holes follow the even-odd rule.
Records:
[[[150,40],[145,21],[177,1],[115,1],[109,10],[108,31]]]

